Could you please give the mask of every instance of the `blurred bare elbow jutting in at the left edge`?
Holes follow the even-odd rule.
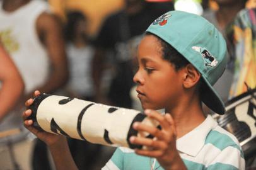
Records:
[[[0,122],[23,94],[23,80],[0,42]]]

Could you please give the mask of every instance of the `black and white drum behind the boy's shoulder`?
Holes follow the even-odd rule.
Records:
[[[256,89],[231,99],[226,103],[226,113],[213,117],[221,127],[235,135],[245,158],[256,154]]]

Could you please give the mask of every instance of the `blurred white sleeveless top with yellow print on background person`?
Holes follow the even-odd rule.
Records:
[[[26,94],[44,84],[49,73],[49,57],[36,30],[38,16],[47,10],[47,3],[39,0],[13,12],[0,3],[0,38],[23,77]]]

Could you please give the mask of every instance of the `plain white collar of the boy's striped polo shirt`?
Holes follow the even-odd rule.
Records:
[[[198,127],[177,139],[177,150],[189,156],[197,156],[205,144],[206,136],[217,125],[218,123],[208,115]]]

